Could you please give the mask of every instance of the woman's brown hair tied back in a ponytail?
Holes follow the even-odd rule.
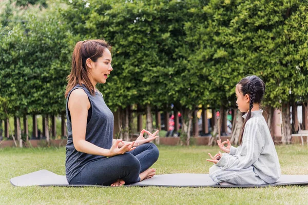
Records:
[[[90,91],[91,95],[95,94],[95,88],[91,84],[88,76],[89,68],[86,65],[86,60],[90,58],[93,62],[96,62],[99,57],[103,56],[105,49],[111,51],[111,46],[105,42],[105,40],[101,39],[84,40],[75,45],[72,54],[72,70],[67,76],[68,83],[66,86],[65,98],[73,87],[77,84],[81,85],[82,82]]]

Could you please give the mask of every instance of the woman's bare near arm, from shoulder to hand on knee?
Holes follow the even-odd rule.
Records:
[[[86,141],[87,117],[90,106],[88,95],[84,90],[76,89],[71,92],[68,108],[71,114],[72,136],[75,149],[79,152],[106,157],[124,154],[132,150],[132,144],[126,144],[119,149],[117,145],[119,145],[122,140],[115,141],[110,150],[100,148]]]

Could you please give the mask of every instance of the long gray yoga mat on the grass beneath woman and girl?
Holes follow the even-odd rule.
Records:
[[[69,185],[66,177],[54,174],[48,170],[40,170],[22,176],[11,178],[13,186],[66,186],[66,187],[107,187],[97,185]],[[155,175],[153,178],[145,179],[129,186],[158,186],[158,187],[237,187],[237,188],[255,188],[268,186],[286,186],[286,185],[308,185],[308,175],[282,175],[276,183],[272,185],[261,186],[220,186],[216,185],[208,174],[163,174]]]

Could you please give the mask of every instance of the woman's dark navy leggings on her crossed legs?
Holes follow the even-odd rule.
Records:
[[[136,149],[109,158],[89,162],[71,181],[70,185],[111,185],[118,179],[125,184],[139,182],[139,174],[158,159],[156,145],[146,143]]]

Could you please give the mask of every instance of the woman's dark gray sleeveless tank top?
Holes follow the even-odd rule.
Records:
[[[88,162],[105,158],[105,156],[78,152],[74,148],[72,124],[68,112],[68,100],[71,92],[78,88],[83,89],[87,93],[92,108],[92,116],[90,121],[87,123],[86,141],[91,142],[98,147],[110,149],[113,138],[113,113],[107,107],[103,95],[99,91],[96,91],[95,95],[92,96],[84,85],[76,85],[68,93],[66,99],[66,125],[68,138],[66,144],[65,171],[68,182],[70,182],[70,180],[75,177]]]

